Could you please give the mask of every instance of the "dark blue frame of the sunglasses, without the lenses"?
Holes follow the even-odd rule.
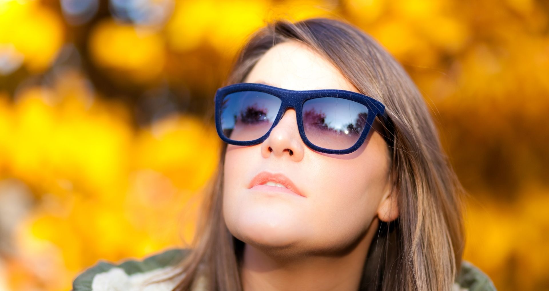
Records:
[[[237,141],[237,140],[229,139],[223,134],[223,129],[221,127],[221,105],[222,105],[223,98],[225,98],[225,96],[227,96],[228,94],[236,93],[236,92],[244,92],[244,91],[257,91],[257,92],[262,92],[262,93],[267,93],[273,96],[277,96],[279,99],[282,100],[282,104],[278,110],[275,120],[273,121],[273,124],[271,125],[271,128],[267,131],[267,133],[265,133],[263,136],[255,140]],[[362,130],[362,133],[358,137],[358,140],[356,141],[356,143],[353,146],[349,147],[348,149],[344,149],[344,150],[326,149],[324,147],[320,147],[313,144],[311,141],[309,141],[309,139],[307,139],[307,136],[305,135],[305,130],[303,127],[303,117],[302,117],[303,104],[307,100],[322,98],[322,97],[334,97],[334,98],[347,99],[347,100],[351,100],[351,101],[355,101],[360,104],[363,104],[368,108],[366,126]],[[301,136],[301,139],[307,146],[309,146],[311,149],[315,151],[323,152],[323,153],[331,153],[336,155],[345,155],[347,153],[356,151],[366,140],[366,136],[370,132],[376,116],[381,118],[386,128],[388,128],[390,132],[390,136],[385,136],[384,134],[382,135],[385,138],[385,141],[388,143],[389,147],[391,147],[391,149],[393,147],[392,136],[394,136],[394,130],[393,130],[394,127],[392,125],[392,122],[389,119],[389,116],[385,111],[385,105],[383,105],[382,102],[376,99],[373,99],[370,96],[360,94],[357,92],[341,90],[341,89],[289,90],[289,89],[273,87],[270,85],[260,84],[260,83],[236,83],[236,84],[227,85],[225,87],[217,89],[215,93],[214,101],[215,101],[215,125],[217,129],[217,134],[219,135],[221,140],[227,142],[227,144],[242,145],[242,146],[260,144],[261,142],[265,141],[267,137],[271,134],[272,129],[275,128],[278,122],[280,121],[280,119],[282,119],[282,116],[284,115],[286,110],[288,108],[293,108],[296,112],[299,135]]]

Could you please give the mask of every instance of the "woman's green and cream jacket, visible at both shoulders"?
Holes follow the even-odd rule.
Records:
[[[126,259],[120,264],[99,260],[74,279],[71,291],[170,291],[181,280],[184,273],[170,281],[148,286],[144,283],[177,273],[175,265],[189,252],[189,249],[166,249],[143,260]],[[205,275],[199,275],[192,290],[207,290]],[[495,290],[494,283],[485,273],[468,261],[463,261],[460,275],[452,291]]]

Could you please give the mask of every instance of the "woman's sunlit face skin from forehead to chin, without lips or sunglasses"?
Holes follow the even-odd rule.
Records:
[[[329,61],[295,41],[268,50],[244,82],[292,90],[358,92]],[[259,248],[294,253],[345,248],[365,235],[376,216],[390,221],[398,215],[389,192],[388,151],[376,130],[348,155],[311,150],[300,138],[295,110],[288,109],[261,144],[227,145],[226,225],[233,236]],[[265,190],[268,187],[249,189],[250,181],[262,171],[287,176],[305,197]]]

